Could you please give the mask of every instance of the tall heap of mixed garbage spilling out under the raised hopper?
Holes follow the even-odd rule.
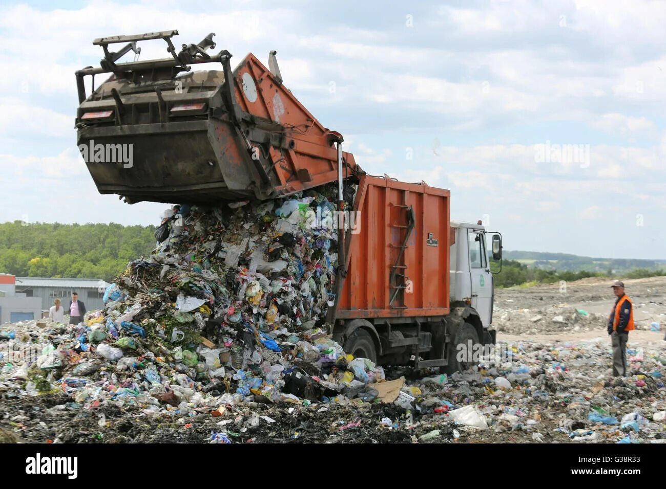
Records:
[[[45,375],[30,375],[28,363],[3,374],[26,379],[30,393],[57,387],[77,402],[155,411],[376,397],[367,386],[384,379],[382,368],[328,335],[336,190],[166,210],[153,255],[129,263],[103,311],[39,332],[47,346],[35,366]],[[344,205],[352,200],[353,190]],[[35,335],[28,330],[18,333]]]

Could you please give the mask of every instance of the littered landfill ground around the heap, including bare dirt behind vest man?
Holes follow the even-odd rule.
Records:
[[[650,327],[666,323],[666,277],[625,281],[637,330],[627,345],[631,375],[622,379],[609,369],[604,318],[613,296],[606,282],[497,291],[494,323],[498,343],[513,352],[510,363],[488,357],[443,385],[422,380],[436,379],[435,371],[387,368],[387,379],[406,377],[410,408],[341,398],[230,404],[215,416],[210,407],[155,413],[132,404],[86,407],[65,393],[27,395],[0,383],[0,442],[210,442],[218,432],[244,443],[664,442],[666,341],[663,329]],[[553,322],[558,316],[564,322]],[[510,387],[501,389],[497,377]],[[465,407],[467,420],[454,422],[452,413]],[[487,427],[467,425],[479,418]]]

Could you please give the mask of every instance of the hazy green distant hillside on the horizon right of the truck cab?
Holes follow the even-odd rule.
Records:
[[[503,257],[519,261],[529,268],[556,271],[591,271],[617,275],[637,268],[666,269],[666,260],[653,259],[595,258],[539,251],[504,251]]]

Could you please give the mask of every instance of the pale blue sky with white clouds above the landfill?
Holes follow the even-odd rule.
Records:
[[[56,3],[0,1],[0,222],[159,224],[165,204],[97,192],[74,72],[97,37],[178,29],[176,46],[216,33],[232,67],[275,49],[357,164],[450,189],[452,219],[505,249],[666,259],[665,3]]]

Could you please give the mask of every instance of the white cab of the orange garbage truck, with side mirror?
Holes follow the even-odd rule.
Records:
[[[450,299],[475,309],[484,328],[492,324],[494,279],[490,263],[501,261],[501,235],[488,233],[482,224],[451,221]],[[488,253],[487,241],[492,241]],[[499,271],[500,267],[498,267]]]

